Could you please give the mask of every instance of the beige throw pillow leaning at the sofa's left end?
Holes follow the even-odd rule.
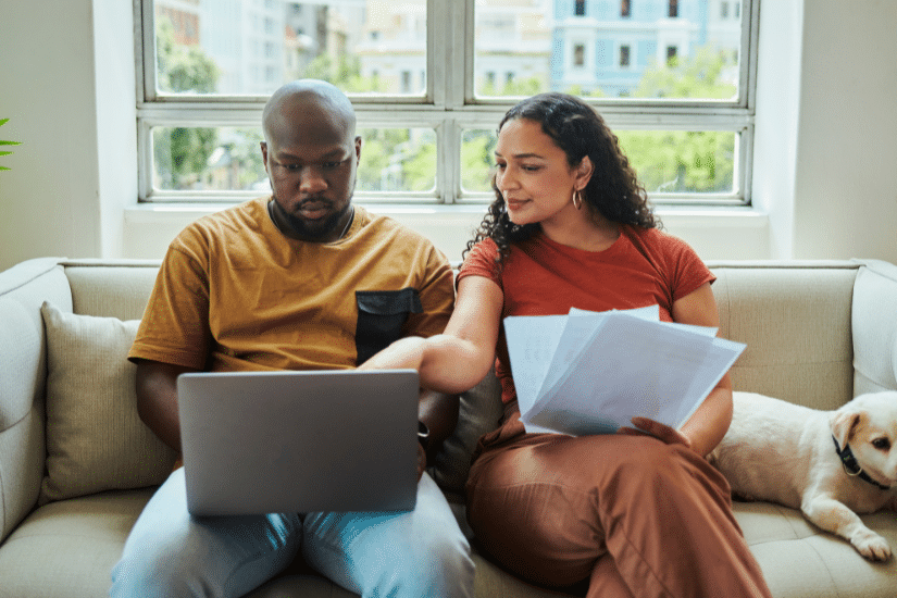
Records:
[[[47,472],[41,504],[161,484],[176,458],[140,421],[136,366],[126,359],[138,321],[41,308],[47,329]]]

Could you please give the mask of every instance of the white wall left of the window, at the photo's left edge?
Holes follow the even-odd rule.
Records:
[[[136,204],[130,2],[3,0],[0,270],[41,256],[116,257]],[[122,84],[127,82],[127,84]]]

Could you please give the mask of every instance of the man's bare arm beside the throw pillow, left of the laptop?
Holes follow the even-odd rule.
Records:
[[[194,367],[141,359],[137,362],[137,413],[159,438],[180,452],[177,376]]]

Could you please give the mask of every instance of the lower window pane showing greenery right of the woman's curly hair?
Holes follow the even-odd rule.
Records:
[[[730,130],[614,130],[649,194],[732,194],[735,148]]]

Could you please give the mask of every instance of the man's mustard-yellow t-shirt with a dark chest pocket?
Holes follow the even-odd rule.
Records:
[[[128,359],[199,370],[350,369],[432,336],[454,301],[445,256],[356,207],[331,244],[284,236],[270,197],[199,219],[171,244]]]

